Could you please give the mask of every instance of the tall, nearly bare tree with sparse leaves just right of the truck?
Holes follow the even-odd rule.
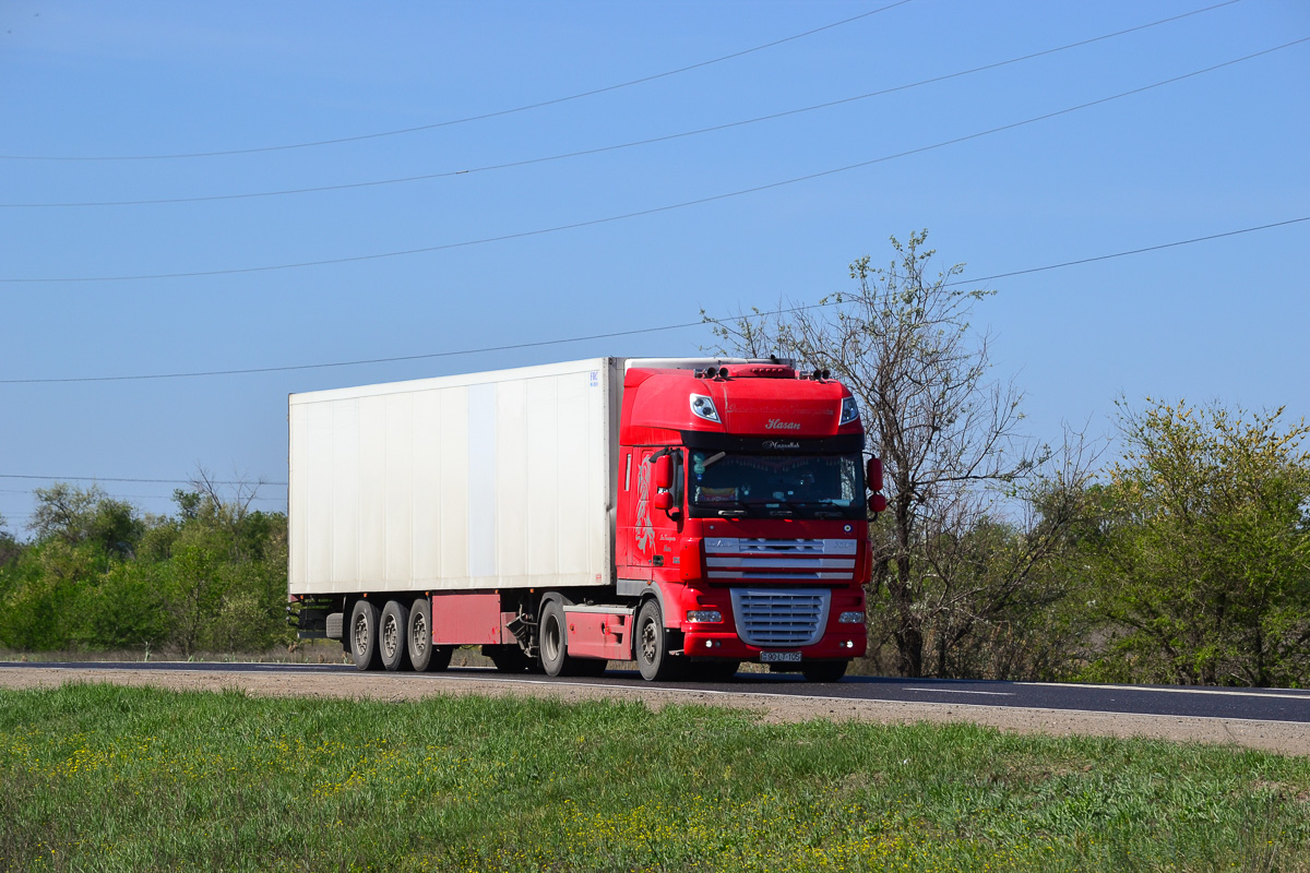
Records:
[[[871,594],[878,602],[886,592],[896,668],[910,677],[948,673],[952,647],[1017,602],[1068,525],[1064,514],[1038,513],[1013,526],[1003,563],[994,543],[981,542],[998,504],[1022,496],[1019,484],[1036,480],[1053,457],[1019,433],[1023,395],[1013,381],[992,378],[988,336],[969,327],[973,304],[992,292],[960,288],[963,264],[929,276],[935,253],[924,249],[926,238],[926,230],[905,243],[892,237],[887,268],[855,260],[855,289],[817,305],[706,319],[718,351],[795,357],[831,370],[858,398],[869,450],[887,471]],[[1076,449],[1065,459],[1061,476],[1041,482],[1072,495],[1086,482],[1089,458]],[[1074,505],[1065,496],[1048,504],[1061,513]],[[968,555],[979,548],[988,555],[981,569]]]

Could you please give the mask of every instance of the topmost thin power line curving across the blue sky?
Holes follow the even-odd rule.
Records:
[[[532,109],[542,109],[545,106],[557,106],[559,103],[567,103],[575,99],[583,99],[584,97],[595,97],[597,94],[605,94],[613,90],[620,90],[622,88],[631,88],[633,85],[642,85],[645,82],[651,82],[658,79],[667,79],[669,76],[677,76],[680,73],[690,72],[693,69],[701,69],[703,67],[710,67],[713,64],[720,64],[726,60],[734,60],[736,58],[744,58],[745,55],[755,54],[757,51],[764,51],[766,48],[774,48],[783,43],[795,42],[796,39],[804,39],[806,37],[812,37],[817,33],[825,30],[832,30],[833,27],[841,27],[844,25],[853,24],[861,18],[869,18],[870,16],[876,16],[880,12],[887,12],[888,9],[895,9],[896,7],[903,7],[913,0],[897,0],[896,3],[872,9],[870,12],[862,12],[858,16],[852,16],[850,18],[842,18],[841,21],[834,21],[831,25],[824,25],[821,27],[815,27],[814,30],[806,30],[804,33],[798,33],[791,37],[783,37],[782,39],[774,39],[773,42],[766,42],[762,46],[755,46],[753,48],[744,48],[741,51],[735,51],[728,55],[722,55],[719,58],[711,58],[710,60],[702,60],[694,64],[688,64],[686,67],[679,67],[677,69],[669,69],[662,73],[655,73],[651,76],[642,76],[641,79],[631,79],[625,82],[618,82],[617,85],[607,85],[604,88],[593,88],[591,90],[579,92],[576,94],[569,94],[567,97],[555,97],[552,99],[544,99],[536,103],[525,103],[523,106],[515,106],[514,109],[502,109],[493,113],[482,113],[479,115],[466,115],[464,118],[452,118],[444,122],[435,122],[432,124],[419,124],[417,127],[402,127],[394,131],[381,131],[376,134],[360,134],[358,136],[339,136],[335,139],[326,140],[313,140],[309,143],[292,143],[287,145],[262,145],[258,148],[244,148],[244,149],[227,149],[227,151],[214,151],[214,152],[182,152],[176,154],[110,154],[110,156],[48,156],[48,154],[0,154],[0,160],[5,161],[164,161],[176,158],[194,158],[194,157],[224,157],[232,154],[257,154],[263,152],[286,152],[291,149],[301,148],[314,148],[320,145],[337,145],[341,143],[359,143],[362,140],[375,140],[383,139],[385,136],[401,136],[403,134],[417,134],[419,131],[432,131],[440,127],[453,127],[455,124],[468,124],[469,122],[481,122],[489,118],[500,118],[503,115],[514,115],[516,113],[525,113]]]

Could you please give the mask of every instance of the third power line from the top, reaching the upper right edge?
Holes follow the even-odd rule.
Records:
[[[1148,92],[1148,90],[1151,90],[1151,89],[1155,89],[1155,88],[1162,88],[1165,85],[1171,85],[1174,82],[1179,82],[1179,81],[1183,81],[1183,80],[1187,80],[1187,79],[1192,79],[1195,76],[1201,76],[1204,73],[1214,72],[1216,69],[1222,69],[1225,67],[1231,67],[1234,64],[1239,64],[1239,63],[1243,63],[1243,62],[1247,62],[1247,60],[1252,60],[1255,58],[1260,58],[1263,55],[1268,55],[1268,54],[1272,54],[1275,51],[1281,51],[1284,48],[1290,48],[1292,46],[1297,46],[1297,45],[1301,45],[1301,43],[1305,43],[1305,42],[1310,42],[1310,37],[1302,37],[1301,39],[1294,39],[1292,42],[1282,43],[1281,46],[1275,46],[1272,48],[1265,48],[1263,51],[1258,51],[1258,52],[1254,52],[1254,54],[1250,54],[1250,55],[1243,55],[1242,58],[1234,58],[1233,60],[1226,60],[1224,63],[1213,64],[1210,67],[1205,67],[1203,69],[1196,69],[1196,71],[1192,71],[1189,73],[1183,73],[1180,76],[1174,76],[1171,79],[1165,79],[1162,81],[1153,82],[1150,85],[1142,85],[1141,88],[1133,88],[1132,90],[1120,92],[1119,94],[1112,94],[1110,97],[1102,97],[1099,99],[1089,101],[1086,103],[1078,103],[1077,106],[1069,106],[1066,109],[1056,110],[1053,113],[1045,113],[1044,115],[1036,115],[1034,118],[1027,118],[1027,119],[1020,120],[1020,122],[1011,122],[1010,124],[1002,124],[1000,127],[993,127],[990,130],[980,131],[977,134],[968,134],[965,136],[958,136],[955,139],[945,140],[945,141],[941,141],[941,143],[934,143],[931,145],[922,145],[922,147],[918,147],[918,148],[907,149],[904,152],[897,152],[895,154],[886,154],[883,157],[876,157],[876,158],[871,158],[871,160],[867,160],[867,161],[859,161],[857,164],[848,164],[846,166],[838,166],[838,168],[833,168],[833,169],[829,169],[829,170],[820,170],[817,173],[810,173],[807,175],[798,175],[795,178],[782,179],[781,182],[769,182],[769,183],[765,183],[765,185],[757,185],[757,186],[753,186],[753,187],[749,187],[749,188],[741,188],[741,190],[738,190],[738,191],[728,191],[728,192],[724,192],[724,194],[714,194],[714,195],[705,196],[705,198],[697,198],[694,200],[684,200],[681,203],[671,203],[671,204],[667,204],[667,205],[651,207],[651,208],[647,208],[647,209],[638,209],[635,212],[625,212],[625,213],[621,213],[621,215],[607,216],[607,217],[603,217],[603,219],[590,219],[590,220],[586,220],[586,221],[574,221],[571,224],[561,224],[561,225],[555,225],[555,226],[550,226],[550,228],[537,228],[537,229],[533,229],[533,230],[520,230],[517,233],[506,233],[506,234],[500,234],[500,236],[495,236],[495,237],[482,237],[479,240],[465,240],[462,242],[447,242],[447,243],[440,243],[440,245],[435,245],[435,246],[421,246],[421,247],[417,247],[417,249],[402,249],[402,250],[398,250],[398,251],[381,251],[381,253],[373,253],[373,254],[367,254],[367,255],[348,255],[348,257],[345,257],[345,258],[324,258],[324,259],[320,259],[320,260],[301,260],[301,262],[296,262],[296,263],[283,263],[283,264],[265,264],[265,266],[259,266],[259,267],[229,267],[229,268],[224,268],[224,270],[193,270],[193,271],[185,271],[185,272],[138,274],[138,275],[128,275],[128,276],[45,276],[45,277],[34,277],[34,279],[0,277],[0,283],[3,283],[3,284],[51,284],[51,283],[93,283],[93,281],[144,281],[144,280],[155,280],[155,279],[195,279],[195,277],[202,277],[202,276],[233,276],[233,275],[246,275],[246,274],[255,274],[255,272],[275,272],[275,271],[283,271],[283,270],[303,270],[305,267],[325,267],[325,266],[345,264],[345,263],[360,263],[360,262],[365,262],[365,260],[383,260],[383,259],[389,259],[389,258],[402,258],[402,257],[417,255],[417,254],[428,254],[428,253],[434,253],[434,251],[448,251],[448,250],[452,250],[452,249],[465,249],[465,247],[469,247],[469,246],[486,245],[486,243],[490,243],[490,242],[506,242],[506,241],[510,241],[510,240],[523,240],[523,238],[527,238],[527,237],[537,237],[537,236],[544,236],[544,234],[549,234],[549,233],[559,233],[562,230],[576,230],[579,228],[590,228],[590,226],[595,226],[595,225],[600,225],[600,224],[610,224],[610,223],[614,223],[614,221],[624,221],[624,220],[627,220],[627,219],[637,219],[637,217],[648,216],[648,215],[658,215],[658,213],[662,213],[662,212],[672,212],[675,209],[684,209],[684,208],[693,207],[693,205],[703,205],[706,203],[715,203],[718,200],[728,200],[728,199],[744,196],[744,195],[748,195],[748,194],[757,194],[760,191],[769,191],[769,190],[773,190],[773,188],[781,188],[781,187],[785,187],[785,186],[789,186],[789,185],[798,185],[800,182],[811,182],[814,179],[820,179],[820,178],[824,178],[824,177],[836,175],[838,173],[848,173],[850,170],[857,170],[857,169],[862,169],[862,168],[866,168],[866,166],[872,166],[875,164],[883,164],[886,161],[892,161],[892,160],[901,158],[901,157],[909,157],[912,154],[922,154],[925,152],[931,152],[934,149],[945,148],[947,145],[955,145],[955,144],[959,144],[959,143],[965,143],[965,141],[969,141],[969,140],[980,139],[982,136],[990,136],[992,134],[1000,134],[1000,132],[1003,132],[1003,131],[1015,130],[1015,128],[1019,128],[1019,127],[1024,127],[1027,124],[1034,124],[1036,122],[1048,120],[1048,119],[1052,119],[1052,118],[1057,118],[1060,115],[1068,115],[1070,113],[1076,113],[1076,111],[1079,111],[1079,110],[1083,110],[1083,109],[1090,109],[1093,106],[1099,106],[1102,103],[1108,103],[1111,101],[1121,99],[1124,97],[1131,97],[1133,94],[1141,94],[1144,92]]]

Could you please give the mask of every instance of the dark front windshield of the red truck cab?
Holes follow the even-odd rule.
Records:
[[[858,454],[693,450],[686,484],[690,513],[702,518],[865,518]]]

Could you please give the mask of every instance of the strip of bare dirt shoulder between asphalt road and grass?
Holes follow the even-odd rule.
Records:
[[[1107,715],[1061,709],[1020,709],[967,704],[892,703],[845,698],[774,696],[766,692],[715,692],[647,687],[565,685],[559,682],[496,681],[483,677],[403,677],[368,674],[296,675],[270,673],[210,673],[200,670],[114,670],[73,668],[7,668],[0,665],[0,688],[51,688],[67,682],[110,682],[170,690],[220,691],[241,688],[253,695],[351,698],[371,700],[417,700],[441,694],[534,695],[563,700],[645,700],[665,704],[736,707],[764,721],[787,722],[808,719],[878,721],[882,724],[973,722],[1048,736],[1150,737],[1179,742],[1244,746],[1285,755],[1310,755],[1310,728],[1282,721],[1241,719],[1188,719],[1176,716]]]

